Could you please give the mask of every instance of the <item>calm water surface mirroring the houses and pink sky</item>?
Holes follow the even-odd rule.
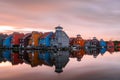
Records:
[[[120,80],[120,52],[88,51],[1,51],[0,80]]]

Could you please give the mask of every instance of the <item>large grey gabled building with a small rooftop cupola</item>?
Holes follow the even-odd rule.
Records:
[[[51,45],[56,47],[69,47],[69,37],[61,26],[55,27],[56,31],[51,39]]]

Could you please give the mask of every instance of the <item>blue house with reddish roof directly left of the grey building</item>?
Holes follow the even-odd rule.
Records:
[[[53,32],[46,32],[43,34],[43,36],[40,38],[39,45],[43,45],[46,47],[51,46],[51,37],[53,35]]]

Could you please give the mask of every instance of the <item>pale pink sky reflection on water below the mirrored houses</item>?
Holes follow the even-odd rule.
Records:
[[[63,72],[54,72],[54,67],[38,66],[31,68],[27,64],[12,66],[9,62],[0,64],[0,80],[116,80],[120,79],[120,52],[106,52],[97,58],[84,55],[78,62],[76,58],[63,68]]]

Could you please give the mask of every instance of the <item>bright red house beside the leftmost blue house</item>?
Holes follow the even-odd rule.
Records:
[[[20,39],[22,39],[23,37],[24,37],[23,33],[14,32],[13,37],[12,37],[12,41],[11,41],[12,47],[19,47],[20,46]]]

